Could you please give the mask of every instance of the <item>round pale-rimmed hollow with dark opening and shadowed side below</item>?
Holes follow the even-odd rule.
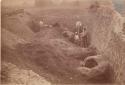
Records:
[[[92,82],[113,82],[113,70],[101,55],[87,57],[77,70]]]

